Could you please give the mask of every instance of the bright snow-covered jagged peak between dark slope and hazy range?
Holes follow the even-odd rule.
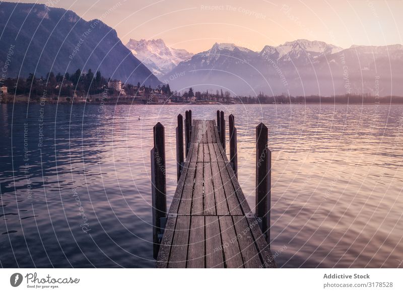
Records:
[[[130,39],[126,47],[156,76],[167,74],[179,62],[193,56],[184,49],[168,47],[162,39],[140,41]]]

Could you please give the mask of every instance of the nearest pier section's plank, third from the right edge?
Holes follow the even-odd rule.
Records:
[[[223,240],[225,266],[227,268],[243,267],[241,251],[235,234],[231,216],[220,216],[221,237]]]

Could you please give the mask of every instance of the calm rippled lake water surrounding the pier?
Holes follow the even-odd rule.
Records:
[[[0,265],[153,267],[152,127],[165,125],[172,196],[176,115],[189,108],[193,118],[235,115],[252,207],[254,127],[270,129],[279,266],[403,267],[396,105],[1,105]]]

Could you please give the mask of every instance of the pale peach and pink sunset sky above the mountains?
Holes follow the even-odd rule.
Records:
[[[33,0],[21,1],[32,3]],[[162,38],[197,53],[215,42],[259,51],[296,39],[341,47],[402,44],[403,1],[343,0],[45,0],[48,6],[101,19],[124,44]],[[53,3],[53,4],[52,4]]]

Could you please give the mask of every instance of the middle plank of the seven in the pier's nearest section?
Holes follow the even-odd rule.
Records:
[[[206,216],[206,267],[223,268],[223,247],[221,243],[218,216]]]

